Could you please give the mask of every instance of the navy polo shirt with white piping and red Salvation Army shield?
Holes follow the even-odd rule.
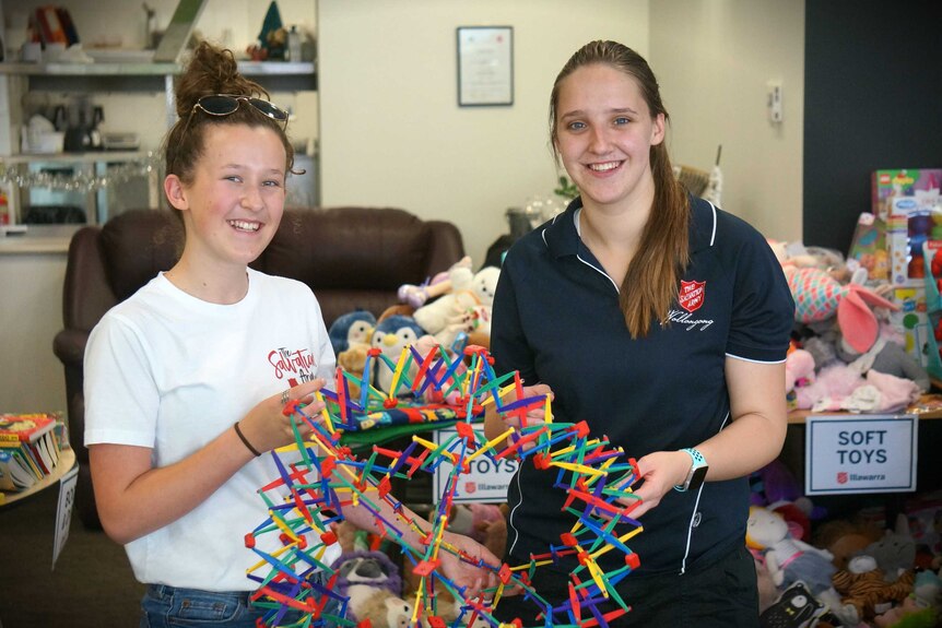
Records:
[[[549,384],[554,420],[586,420],[629,458],[694,447],[729,423],[727,356],[785,359],[794,306],[781,266],[757,230],[691,198],[691,263],[670,324],[632,340],[619,286],[579,238],[579,211],[577,199],[508,251],[493,306],[495,369]],[[573,526],[555,475],[529,458],[510,483],[507,548],[516,562],[558,546]],[[710,564],[743,543],[747,509],[746,478],[670,491],[628,543],[640,557],[636,574]],[[615,554],[601,557],[605,571],[624,566]]]

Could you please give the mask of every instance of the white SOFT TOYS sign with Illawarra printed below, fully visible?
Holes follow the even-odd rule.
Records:
[[[805,494],[916,490],[917,420],[914,415],[809,416]]]

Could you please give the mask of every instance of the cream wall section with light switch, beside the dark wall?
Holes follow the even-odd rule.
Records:
[[[658,0],[650,39],[674,163],[709,170],[722,144],[722,208],[766,237],[800,240],[804,0]],[[769,80],[782,85],[779,125]]]

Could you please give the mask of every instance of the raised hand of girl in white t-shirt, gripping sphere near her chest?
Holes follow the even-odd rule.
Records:
[[[287,389],[289,404],[297,402],[304,405],[301,408],[304,414],[316,417],[323,410],[325,404],[322,401],[316,401],[314,393],[325,383],[323,379],[317,378]],[[262,400],[238,423],[243,436],[257,451],[266,452],[294,442],[291,413],[284,412],[283,394],[280,392]],[[311,431],[310,426],[305,422],[298,422],[297,428],[302,437],[306,437]]]

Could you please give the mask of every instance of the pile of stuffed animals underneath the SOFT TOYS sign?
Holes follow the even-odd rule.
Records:
[[[905,514],[882,533],[828,521],[809,544],[778,513],[752,507],[746,542],[756,556],[763,628],[942,626],[942,556],[919,566],[917,553],[925,548],[917,547]]]

